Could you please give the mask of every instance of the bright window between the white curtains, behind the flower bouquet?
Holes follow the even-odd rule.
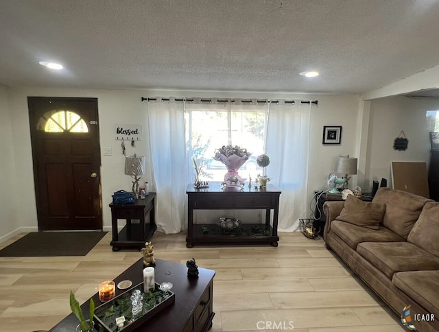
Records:
[[[239,145],[252,152],[252,156],[239,169],[242,178],[256,178],[261,167],[256,158],[264,151],[266,106],[237,105],[190,105],[185,112],[187,156],[193,165],[195,159],[201,167],[200,180],[223,181],[226,166],[213,159],[215,150],[222,145]],[[193,168],[193,167],[192,167]],[[193,174],[190,171],[189,174]],[[189,180],[194,180],[189,178]]]

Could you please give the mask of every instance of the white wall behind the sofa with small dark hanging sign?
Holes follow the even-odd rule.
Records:
[[[392,161],[423,161],[429,166],[430,142],[425,113],[438,110],[438,99],[413,99],[405,96],[375,99],[370,107],[370,127],[366,162],[366,179],[388,180],[392,187]],[[407,150],[393,149],[394,139],[403,130],[408,139]]]

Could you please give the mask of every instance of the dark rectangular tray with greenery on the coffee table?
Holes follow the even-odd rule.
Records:
[[[134,289],[139,289],[143,295],[143,310],[133,318],[131,312],[131,295]],[[168,291],[168,298],[165,298],[163,294],[164,292],[160,289],[158,283],[156,283],[154,291],[150,291],[149,293],[144,293],[143,282],[139,283],[139,285],[128,289],[112,300],[96,307],[94,317],[95,327],[99,331],[102,331],[102,328],[104,331],[110,332],[134,331],[134,329],[152,318],[156,313],[175,302],[175,294],[173,292]],[[121,316],[125,317],[125,322],[123,323],[123,327],[118,327],[116,318]]]

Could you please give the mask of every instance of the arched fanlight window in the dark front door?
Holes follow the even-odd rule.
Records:
[[[84,119],[70,110],[53,110],[45,113],[36,128],[45,132],[88,132]]]

